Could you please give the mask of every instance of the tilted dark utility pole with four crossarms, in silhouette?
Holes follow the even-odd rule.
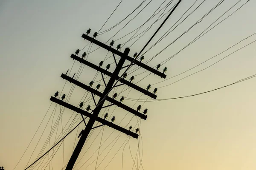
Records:
[[[89,32],[90,32],[90,31],[89,31]],[[96,45],[99,45],[99,46],[102,47],[102,48],[105,48],[105,50],[108,50],[108,51],[112,52],[113,58],[114,58],[115,63],[116,63],[116,68],[115,68],[115,70],[113,71],[113,73],[107,71],[107,69],[105,70],[105,69],[101,68],[101,65],[102,65],[102,64],[101,64],[100,66],[97,66],[97,65],[94,65],[94,64],[91,63],[91,62],[86,61],[86,60],[84,59],[84,58],[85,58],[84,55],[82,55],[82,57],[78,57],[77,54],[78,54],[79,52],[78,52],[78,53],[76,52],[76,55],[75,55],[75,54],[72,54],[72,55],[71,55],[71,58],[73,58],[73,59],[75,59],[75,60],[77,60],[77,61],[83,63],[84,65],[87,65],[87,66],[89,66],[89,67],[95,69],[96,71],[101,72],[103,82],[104,82],[104,84],[105,84],[105,86],[106,86],[104,92],[101,93],[101,92],[98,91],[98,89],[91,88],[92,85],[90,85],[90,84],[89,84],[89,86],[88,86],[88,85],[85,85],[85,84],[83,84],[83,83],[77,81],[77,80],[74,79],[73,77],[67,76],[67,73],[66,73],[66,74],[61,74],[61,78],[66,79],[67,81],[69,81],[69,82],[71,82],[71,83],[73,83],[73,84],[75,84],[75,85],[77,85],[77,86],[79,86],[79,87],[81,87],[81,88],[83,88],[83,89],[85,89],[85,90],[87,90],[87,91],[90,91],[90,92],[92,93],[93,101],[95,102],[96,108],[92,111],[92,113],[89,113],[89,112],[87,112],[87,111],[82,110],[81,107],[78,108],[78,107],[76,107],[76,106],[70,105],[70,104],[68,104],[67,102],[64,102],[63,100],[57,99],[57,98],[55,98],[55,97],[51,97],[51,98],[50,98],[50,100],[51,100],[52,102],[55,102],[55,103],[57,103],[57,104],[59,104],[59,105],[62,105],[62,106],[64,106],[64,107],[66,107],[66,108],[69,108],[70,110],[76,111],[77,113],[80,113],[82,116],[87,116],[87,117],[89,118],[89,121],[88,121],[87,125],[86,125],[86,123],[84,122],[84,124],[86,125],[86,127],[85,127],[85,129],[82,130],[82,132],[81,132],[81,136],[80,136],[79,142],[78,142],[78,144],[76,145],[76,148],[75,148],[75,150],[74,150],[74,152],[73,152],[73,154],[72,154],[72,156],[71,156],[71,158],[70,158],[70,160],[69,160],[69,162],[68,162],[68,164],[67,164],[66,170],[72,170],[72,169],[73,169],[74,164],[75,164],[75,162],[76,162],[76,160],[77,160],[77,158],[78,158],[78,156],[79,156],[79,153],[81,152],[81,149],[82,149],[82,147],[83,147],[83,145],[84,145],[84,142],[86,141],[86,139],[87,139],[87,137],[88,137],[88,135],[89,135],[89,133],[90,133],[90,130],[92,130],[92,129],[94,129],[94,128],[97,128],[97,127],[100,127],[100,126],[103,126],[103,125],[107,125],[107,126],[109,126],[109,127],[112,127],[113,129],[119,130],[120,132],[125,133],[125,134],[127,134],[127,135],[129,135],[129,136],[132,136],[132,137],[134,137],[134,138],[138,138],[137,131],[138,131],[139,129],[137,129],[137,130],[136,130],[136,133],[134,133],[134,132],[132,132],[132,131],[130,131],[130,130],[128,130],[128,129],[125,129],[125,128],[123,128],[123,127],[120,127],[120,126],[118,126],[118,125],[115,125],[115,124],[113,123],[113,121],[109,122],[109,121],[107,121],[107,120],[105,120],[105,119],[103,119],[103,118],[98,117],[98,115],[99,115],[99,113],[100,113],[100,111],[101,111],[102,108],[110,107],[110,106],[112,106],[112,105],[117,105],[118,107],[120,107],[120,108],[122,108],[122,109],[124,109],[124,110],[126,110],[126,111],[129,111],[129,112],[133,113],[135,116],[138,116],[138,117],[140,117],[141,119],[144,119],[144,120],[147,119],[147,116],[146,116],[147,109],[146,109],[146,111],[145,111],[145,110],[143,111],[144,113],[140,113],[140,112],[139,112],[139,111],[140,111],[140,108],[141,108],[140,105],[138,106],[137,111],[136,111],[136,110],[134,110],[133,108],[130,108],[130,107],[128,107],[127,105],[122,104],[122,101],[121,101],[122,99],[120,100],[121,102],[119,102],[119,101],[117,101],[117,100],[115,99],[116,96],[113,97],[113,98],[111,98],[110,96],[108,96],[108,94],[109,94],[109,92],[112,90],[112,88],[119,86],[119,85],[113,86],[114,82],[115,82],[116,80],[118,80],[119,82],[122,83],[122,84],[120,84],[120,85],[128,85],[128,86],[130,86],[131,88],[134,88],[135,90],[140,91],[141,93],[143,93],[143,94],[145,94],[145,95],[147,95],[147,96],[150,96],[151,98],[154,98],[154,99],[157,98],[157,96],[155,95],[155,91],[154,91],[154,93],[151,93],[150,91],[148,91],[149,88],[148,88],[147,90],[145,90],[145,89],[143,89],[143,88],[140,88],[139,86],[133,84],[131,81],[125,80],[125,77],[126,77],[126,76],[119,77],[119,73],[120,73],[121,69],[129,66],[129,65],[123,66],[126,60],[130,61],[130,62],[131,62],[131,65],[138,65],[138,66],[140,66],[141,68],[144,68],[144,69],[146,69],[146,70],[148,70],[148,71],[150,71],[150,72],[156,74],[157,76],[166,78],[166,75],[165,75],[164,73],[158,71],[157,69],[151,68],[151,67],[149,67],[148,65],[143,64],[142,61],[135,60],[134,58],[137,57],[136,54],[134,54],[134,58],[129,57],[129,56],[128,56],[129,51],[130,51],[129,48],[125,48],[125,51],[122,53],[122,52],[118,51],[119,47],[117,47],[117,49],[114,49],[114,48],[111,47],[111,46],[113,45],[112,42],[111,42],[111,43],[112,43],[111,46],[108,46],[108,45],[105,45],[104,43],[99,42],[98,40],[96,40],[96,39],[95,39],[95,38],[96,38],[96,36],[95,36],[96,34],[97,34],[97,33],[95,33],[95,34],[93,35],[93,37],[89,37],[87,34],[83,34],[83,35],[82,35],[82,38],[84,38],[85,40],[88,40],[88,41],[90,41],[90,42],[92,42],[92,43],[94,43],[94,44],[96,44]],[[119,46],[119,45],[118,45],[118,46]],[[120,56],[120,60],[119,60],[118,63],[116,62],[115,55]],[[103,74],[106,74],[106,75],[108,75],[108,76],[111,77],[111,78],[109,79],[109,81],[108,81],[108,84],[106,84],[105,79],[104,79],[104,77],[103,77]],[[93,94],[100,97],[98,103],[96,103]],[[106,100],[109,101],[109,102],[111,102],[112,104],[111,104],[111,105],[104,106],[104,102],[105,102]],[[112,118],[112,120],[113,120],[113,119],[114,119],[114,117]],[[93,125],[94,125],[94,123],[95,123],[96,121],[102,123],[102,125],[93,127]]]

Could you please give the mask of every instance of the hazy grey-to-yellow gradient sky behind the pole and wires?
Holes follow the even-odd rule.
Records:
[[[61,92],[62,89],[62,94],[69,96],[72,84],[70,82],[65,83],[65,80],[60,77],[61,73],[66,73],[68,69],[70,76],[76,73],[75,78],[84,84],[88,84],[97,75],[97,72],[92,68],[74,62],[70,55],[89,43],[81,38],[81,35],[88,28],[91,29],[90,36],[96,31],[105,31],[127,17],[143,1],[123,0],[116,8],[119,2],[120,0],[0,1],[0,166],[5,167],[6,170],[15,168],[42,120],[42,124],[16,170],[27,167],[35,161],[37,156],[46,152],[55,141],[61,139],[61,136],[67,133],[67,131],[62,133],[62,128],[67,129],[65,125],[68,127],[71,121],[75,119],[74,127],[81,121],[80,115],[51,103],[49,98],[56,91]],[[111,40],[115,40],[114,48],[119,43],[125,43],[133,35],[128,34],[129,32],[143,25],[161,3],[163,5],[158,11],[169,2],[168,0],[145,0],[140,8],[122,23],[111,31],[98,35],[96,39],[106,42],[107,45]],[[147,63],[147,65],[155,68],[157,64],[172,57],[198,37],[202,31],[237,2],[239,3],[227,11],[217,23],[232,14],[247,0],[224,0],[201,22],[189,29],[218,2],[220,0],[182,0],[145,51],[157,42],[166,31],[175,28],[202,4],[165,39],[144,54],[143,62],[171,43],[168,48]],[[176,3],[177,0],[174,0],[165,12]],[[195,3],[194,6],[192,6],[193,3]],[[190,6],[192,7],[189,9]],[[161,65],[160,71],[167,67],[166,79],[174,77],[254,34],[256,30],[255,7],[255,1],[247,2],[227,20],[224,20]],[[115,8],[116,11],[105,23]],[[142,11],[140,12],[140,10]],[[145,23],[137,34],[154,23],[162,12]],[[138,15],[134,17],[136,14]],[[133,17],[134,19],[131,20]],[[156,22],[136,43],[134,42],[139,37],[125,43],[121,51],[123,52],[126,47],[129,47],[130,56],[139,52],[165,17],[166,15]],[[181,20],[179,20],[180,17],[182,17]],[[129,20],[131,20],[130,23],[128,23]],[[128,24],[126,25],[126,23]],[[214,23],[209,29],[217,23]],[[100,29],[102,26],[103,28]],[[125,27],[122,28],[123,26]],[[121,31],[119,31],[120,29]],[[189,31],[183,34],[187,29]],[[128,35],[118,40],[125,34]],[[180,35],[182,36],[180,37]],[[140,74],[135,77],[134,82],[145,78],[137,85],[146,88],[148,84],[151,84],[150,91],[158,88],[157,99],[188,96],[219,88],[256,74],[256,42],[233,53],[255,39],[256,35],[253,35],[202,65],[159,84],[153,85],[163,81],[163,78],[161,79],[154,74],[148,75],[149,72],[140,74],[145,71],[143,68],[129,74],[128,78],[131,75]],[[96,45],[89,43],[86,48],[80,51],[79,56],[81,57],[83,52],[91,52],[87,55],[87,60],[96,65],[105,57],[111,56],[102,48],[94,51],[97,48]],[[224,59],[212,65],[222,58]],[[105,68],[108,63],[111,64],[113,61],[113,57],[110,57],[102,67]],[[125,64],[128,63],[125,62]],[[212,66],[207,68],[210,65]],[[111,64],[109,71],[113,71],[114,68],[115,65]],[[131,69],[133,68],[136,67],[133,66]],[[204,68],[207,69],[186,77]],[[186,78],[183,79],[183,77]],[[101,80],[101,78],[98,74],[95,81]],[[173,82],[175,83],[172,84]],[[99,91],[103,91],[104,83],[102,81],[100,83],[102,87]],[[160,88],[165,85],[168,86]],[[159,102],[149,102],[150,98],[135,90],[130,91],[128,89],[120,94],[127,87],[115,88],[115,91],[120,95],[117,100],[121,96],[125,96],[123,102],[125,105],[134,109],[138,105],[142,105],[142,110],[148,108],[148,119],[136,119],[131,113],[126,114],[127,112],[122,108],[115,108],[114,106],[111,106],[109,110],[101,111],[100,116],[108,112],[111,113],[111,116],[116,116],[115,124],[122,127],[132,125],[135,129],[140,127],[140,137],[139,139],[129,139],[125,134],[119,136],[120,133],[110,127],[99,127],[93,131],[87,140],[88,142],[84,145],[78,159],[81,161],[74,170],[95,170],[95,167],[98,166],[98,170],[255,170],[255,85],[256,79],[250,79],[207,94]],[[93,88],[95,86],[96,83]],[[90,99],[90,94],[79,87],[75,87],[72,91],[70,98],[65,99],[72,105],[79,105],[81,100]],[[110,96],[112,93],[111,91]],[[133,102],[128,98],[149,100],[147,102],[142,100]],[[99,98],[96,97],[96,100]],[[105,102],[105,105],[107,104],[108,102]],[[92,108],[95,108],[92,100],[85,102],[85,105],[91,105]],[[49,111],[47,112],[48,108]],[[63,110],[64,112],[61,113]],[[44,115],[46,115],[45,118]],[[58,119],[59,115],[62,115],[61,119]],[[54,129],[54,127],[56,128]],[[79,125],[64,140],[64,143],[57,146],[59,149],[54,150],[54,153],[57,152],[52,161],[49,160],[52,155],[50,152],[43,158],[44,161],[42,160],[41,166],[37,164],[32,169],[61,170],[70,159],[73,147],[78,142],[77,136],[83,128],[83,124]],[[52,134],[52,137],[47,140],[49,134]],[[47,143],[46,147],[40,152],[45,142]],[[100,145],[101,147],[99,147]],[[99,158],[97,159],[98,148]],[[139,151],[137,151],[138,148]]]

